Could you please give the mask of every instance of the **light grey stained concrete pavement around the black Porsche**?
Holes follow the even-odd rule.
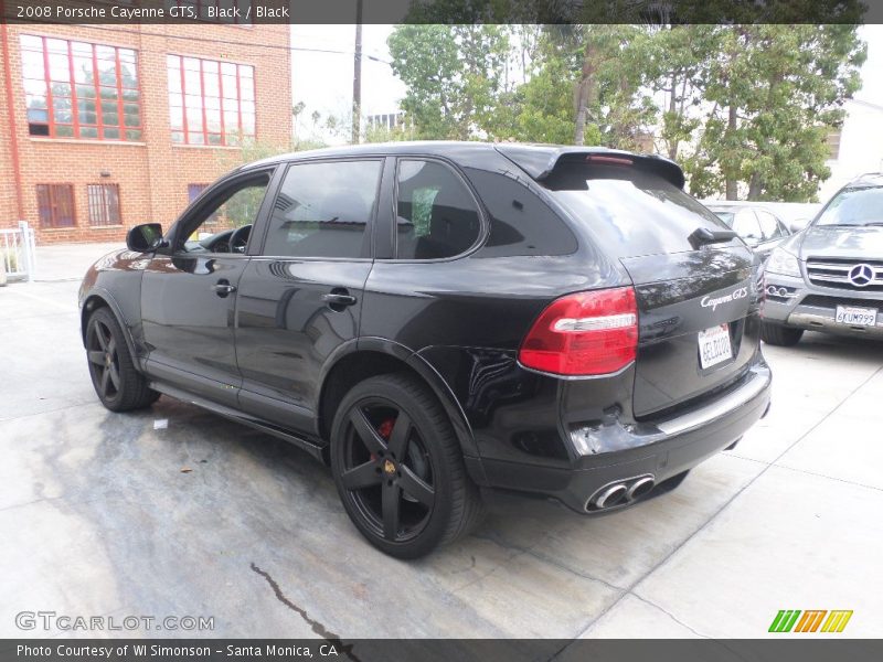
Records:
[[[883,344],[765,348],[769,416],[672,493],[598,519],[498,503],[403,563],[285,442],[167,397],[98,404],[76,290],[103,249],[40,248],[38,281],[0,288],[0,637],[103,636],[22,631],[25,610],[214,619],[163,637],[568,639],[755,638],[780,609],[850,609],[838,637],[880,634]]]

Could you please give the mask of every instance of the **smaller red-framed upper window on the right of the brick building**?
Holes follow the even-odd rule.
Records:
[[[167,65],[172,142],[228,146],[254,138],[254,67],[178,55]]]

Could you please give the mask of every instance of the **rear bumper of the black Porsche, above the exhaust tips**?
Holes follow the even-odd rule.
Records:
[[[482,459],[485,478],[492,488],[550,496],[581,513],[623,508],[639,499],[600,511],[588,503],[621,481],[634,484],[635,479],[649,476],[659,484],[731,446],[766,415],[770,384],[769,367],[758,362],[702,407],[664,420],[616,421],[593,429],[591,445],[571,444],[577,450],[568,468]],[[589,448],[617,450],[592,452]]]

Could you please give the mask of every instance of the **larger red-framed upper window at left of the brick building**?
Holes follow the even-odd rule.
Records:
[[[141,140],[135,51],[22,34],[21,58],[31,136]]]

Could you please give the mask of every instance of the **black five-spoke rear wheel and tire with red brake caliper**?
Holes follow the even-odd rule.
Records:
[[[343,397],[331,427],[331,471],[355,527],[398,558],[466,535],[483,514],[450,420],[409,375],[371,377]]]

